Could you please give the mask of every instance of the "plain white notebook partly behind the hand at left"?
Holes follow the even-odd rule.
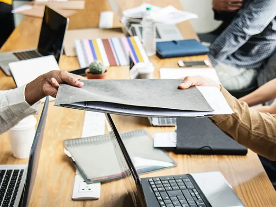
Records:
[[[9,63],[9,67],[17,87],[30,83],[44,73],[59,70],[53,55],[12,62]],[[41,102],[45,100],[46,98],[43,98]],[[53,100],[54,98],[50,96],[50,101]]]

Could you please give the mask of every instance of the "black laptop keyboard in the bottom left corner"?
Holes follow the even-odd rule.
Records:
[[[0,170],[0,207],[13,207],[24,170]]]

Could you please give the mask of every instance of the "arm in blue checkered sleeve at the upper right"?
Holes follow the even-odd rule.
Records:
[[[209,47],[213,66],[242,47],[250,37],[261,33],[276,16],[275,0],[250,0],[229,26]]]

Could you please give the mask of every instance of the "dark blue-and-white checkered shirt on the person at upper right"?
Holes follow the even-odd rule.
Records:
[[[214,66],[261,69],[276,50],[276,0],[243,0],[242,8],[209,50]]]

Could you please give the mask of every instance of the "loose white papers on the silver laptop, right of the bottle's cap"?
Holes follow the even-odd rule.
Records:
[[[198,18],[196,14],[181,11],[173,6],[166,6],[158,11],[153,12],[153,18],[156,23],[178,24],[192,18]]]

